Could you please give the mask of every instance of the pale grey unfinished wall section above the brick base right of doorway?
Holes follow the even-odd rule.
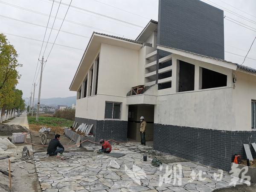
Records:
[[[232,90],[218,88],[157,96],[155,123],[233,130],[236,123]]]

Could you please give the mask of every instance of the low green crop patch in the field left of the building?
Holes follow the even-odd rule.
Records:
[[[58,117],[39,116],[38,121],[35,121],[35,116],[28,116],[29,124],[47,126],[47,127],[70,127],[73,121]]]

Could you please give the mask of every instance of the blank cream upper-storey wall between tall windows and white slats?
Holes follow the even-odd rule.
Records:
[[[137,85],[138,51],[102,44],[98,93],[126,96]]]

